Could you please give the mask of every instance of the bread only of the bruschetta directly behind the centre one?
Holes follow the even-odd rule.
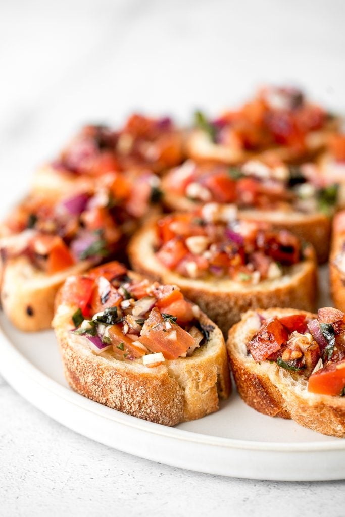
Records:
[[[164,189],[164,181],[162,182]],[[200,203],[189,200],[185,196],[172,194],[165,190],[164,205],[173,211],[193,211]],[[289,230],[300,239],[310,242],[316,251],[319,264],[328,260],[331,240],[331,218],[322,212],[303,214],[298,211],[283,210],[238,210],[238,219],[263,221],[272,225],[274,230]]]

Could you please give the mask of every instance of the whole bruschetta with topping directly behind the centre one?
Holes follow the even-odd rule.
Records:
[[[195,210],[205,203],[235,203],[238,218],[265,221],[310,242],[318,261],[328,258],[331,216],[339,201],[336,185],[323,185],[303,168],[249,160],[243,165],[198,164],[187,160],[162,179],[170,210]]]

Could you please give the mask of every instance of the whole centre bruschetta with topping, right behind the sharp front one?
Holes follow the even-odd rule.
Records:
[[[134,269],[181,287],[224,333],[249,308],[314,307],[312,247],[288,231],[239,221],[234,205],[160,218],[133,236],[128,253]]]

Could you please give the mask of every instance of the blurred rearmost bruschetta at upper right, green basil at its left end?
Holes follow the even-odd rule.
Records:
[[[274,150],[286,162],[314,156],[327,136],[338,128],[338,119],[306,100],[295,88],[264,87],[238,110],[215,120],[202,113],[187,142],[187,154],[196,160],[237,164],[253,155]]]

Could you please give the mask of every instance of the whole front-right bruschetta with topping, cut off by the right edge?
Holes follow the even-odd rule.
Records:
[[[345,437],[345,315],[295,309],[248,311],[227,342],[237,390],[269,416]]]

